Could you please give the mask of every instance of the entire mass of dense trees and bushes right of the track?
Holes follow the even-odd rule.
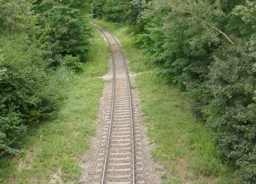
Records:
[[[94,0],[178,84],[241,182],[256,182],[256,2]],[[97,7],[97,8],[96,8]]]

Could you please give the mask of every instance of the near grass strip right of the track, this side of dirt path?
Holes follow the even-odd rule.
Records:
[[[152,157],[167,171],[162,183],[235,184],[229,166],[211,133],[196,120],[182,93],[156,72],[136,77]]]

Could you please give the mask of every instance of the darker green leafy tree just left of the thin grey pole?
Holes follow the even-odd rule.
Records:
[[[50,52],[53,66],[58,66],[59,54],[83,56],[90,49],[89,24],[80,18],[83,11],[76,0],[57,5],[43,1],[35,11],[41,27],[39,40],[42,48]]]

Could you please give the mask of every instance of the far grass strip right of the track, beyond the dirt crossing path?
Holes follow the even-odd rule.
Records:
[[[121,42],[122,48],[127,51],[130,60],[130,70],[133,72],[143,72],[154,69],[149,56],[145,56],[136,44],[136,38],[127,34],[128,27],[120,23],[110,23],[100,19],[95,19],[95,23],[107,28]]]

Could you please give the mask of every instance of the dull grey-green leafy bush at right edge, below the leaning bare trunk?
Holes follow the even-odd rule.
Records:
[[[235,159],[239,174],[253,183],[256,181],[255,58],[248,56],[243,42],[239,45],[239,48],[223,46],[216,54],[219,58],[210,67],[207,85],[214,99],[203,113],[223,153]]]

